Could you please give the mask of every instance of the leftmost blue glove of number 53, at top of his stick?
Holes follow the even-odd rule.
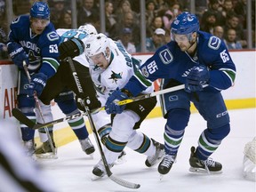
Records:
[[[28,55],[24,51],[23,47],[20,44],[17,44],[15,42],[12,42],[8,44],[8,53],[10,54],[10,57],[12,58],[12,61],[18,68],[23,68],[23,60],[26,62],[28,66]]]

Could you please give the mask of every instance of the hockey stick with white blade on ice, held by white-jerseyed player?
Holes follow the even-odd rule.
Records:
[[[76,68],[74,66],[73,60],[70,57],[68,57],[68,63],[69,63],[69,66],[71,68],[72,74],[74,76],[74,80],[76,82],[76,86],[77,86],[78,92],[79,93],[84,93],[83,87],[81,86],[80,81],[79,81],[79,77],[77,76]],[[98,132],[97,132],[95,124],[94,124],[94,122],[92,120],[92,115],[91,115],[90,109],[88,108],[88,106],[86,106],[84,104],[84,100],[82,100],[80,103],[81,103],[82,106],[84,106],[85,112],[87,114],[89,123],[90,123],[91,128],[92,128],[92,132],[93,132],[94,138],[95,138],[96,143],[98,145],[98,148],[100,150],[100,156],[101,156],[102,162],[104,164],[104,168],[105,168],[105,170],[107,172],[108,178],[110,178],[110,180],[113,180],[114,182],[116,182],[117,184],[119,184],[119,185],[121,185],[121,186],[123,186],[125,188],[140,188],[140,184],[132,183],[132,182],[129,182],[127,180],[123,180],[123,179],[121,179],[119,177],[116,177],[110,171],[110,168],[108,166],[108,162],[107,162],[106,156],[105,156],[105,154],[103,152],[103,148],[102,148],[102,146],[100,144],[100,138],[99,138]]]

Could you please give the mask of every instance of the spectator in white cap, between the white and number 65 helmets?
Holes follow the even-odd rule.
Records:
[[[146,39],[146,52],[156,52],[156,49],[165,43],[165,31],[163,28],[156,28],[152,37]]]

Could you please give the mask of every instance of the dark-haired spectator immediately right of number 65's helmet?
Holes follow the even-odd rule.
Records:
[[[204,15],[201,20],[200,30],[213,34],[213,28],[215,26],[216,26],[215,12],[212,12],[212,11],[204,12]]]

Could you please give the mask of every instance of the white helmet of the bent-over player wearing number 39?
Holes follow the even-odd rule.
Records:
[[[110,58],[110,54],[108,54],[107,48],[110,50],[110,44],[107,36],[102,33],[92,35],[89,36],[85,42],[85,55],[90,58],[102,52],[106,57],[106,60],[108,60]]]

